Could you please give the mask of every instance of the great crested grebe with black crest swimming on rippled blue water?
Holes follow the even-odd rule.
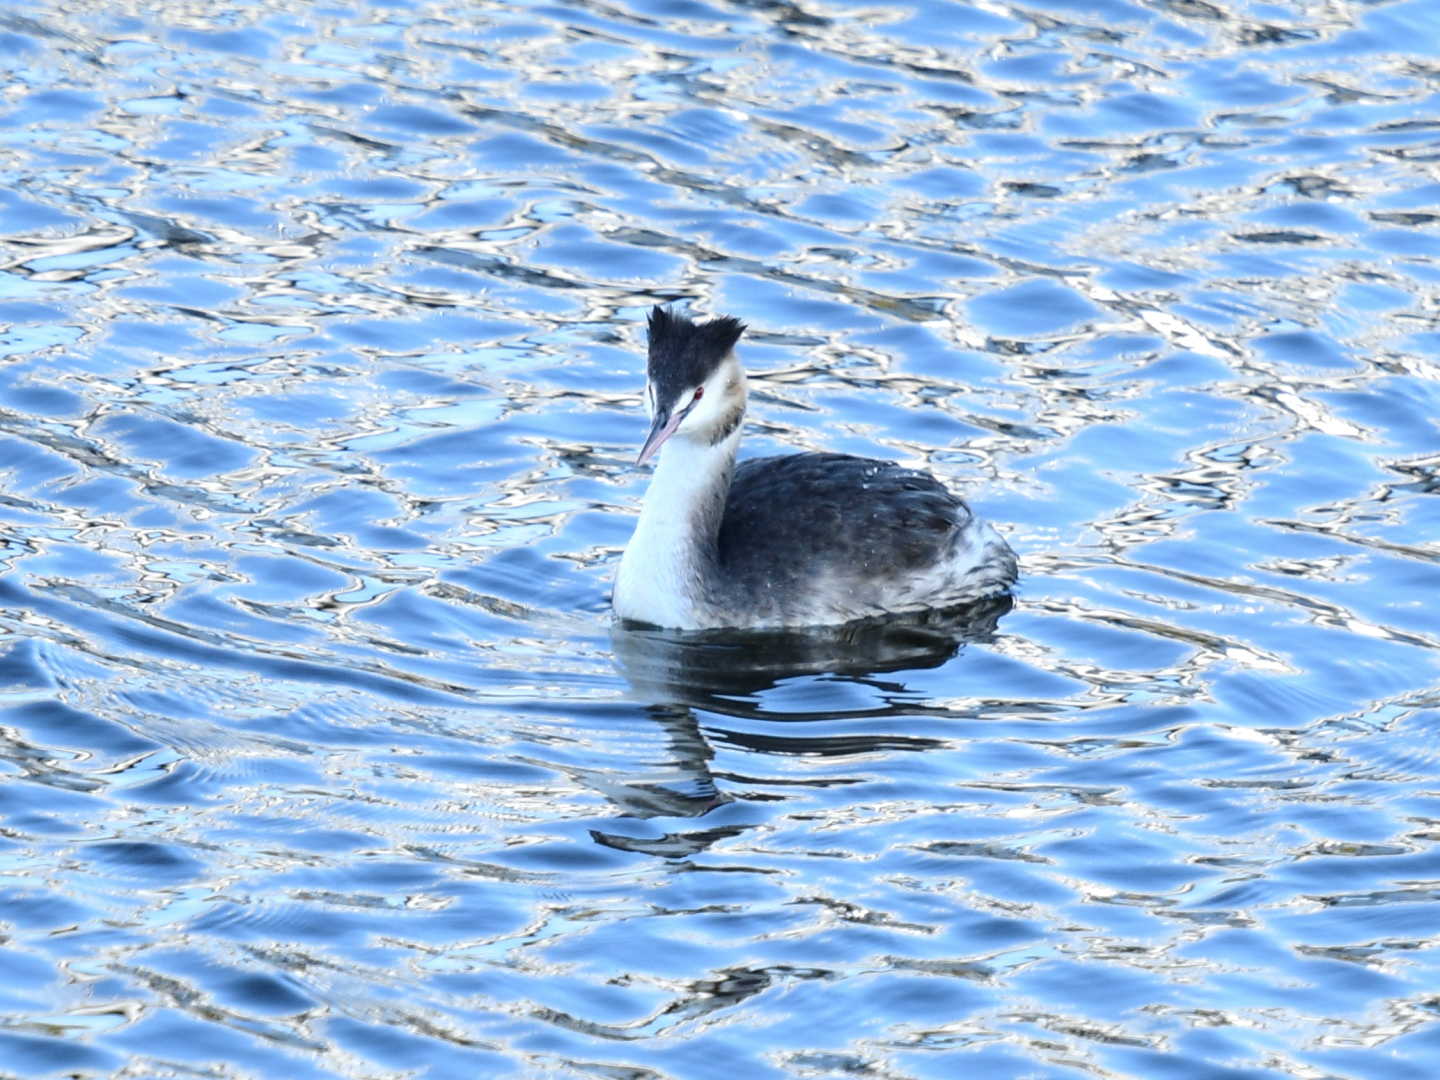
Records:
[[[613,609],[675,629],[799,628],[1005,592],[1015,553],[929,472],[848,454],[736,465],[747,399],[737,318],[649,312],[636,464],[660,454]]]

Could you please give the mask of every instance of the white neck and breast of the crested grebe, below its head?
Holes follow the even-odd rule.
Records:
[[[680,629],[706,625],[704,583],[719,572],[716,537],[739,445],[737,426],[714,445],[677,432],[660,448],[639,524],[615,577],[613,606],[622,619]]]

